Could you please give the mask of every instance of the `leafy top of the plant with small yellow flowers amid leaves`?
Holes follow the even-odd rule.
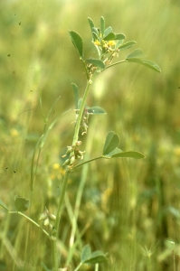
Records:
[[[88,18],[88,22],[90,24],[92,42],[98,52],[98,58],[84,59],[84,47],[81,35],[77,32],[70,31],[71,42],[80,54],[80,58],[84,63],[88,79],[90,79],[94,73],[99,72],[99,70],[106,70],[109,67],[122,62],[136,62],[152,70],[158,72],[161,71],[155,62],[144,60],[146,54],[139,48],[128,54],[125,60],[113,63],[114,58],[118,57],[120,51],[131,48],[137,42],[124,42],[126,35],[124,33],[114,33],[111,26],[106,28],[105,19],[103,16],[100,17],[100,27],[95,27],[95,24],[90,18]]]

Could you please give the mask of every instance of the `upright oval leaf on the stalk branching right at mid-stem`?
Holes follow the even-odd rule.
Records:
[[[110,152],[112,152],[118,146],[118,143],[119,143],[118,135],[115,135],[114,132],[109,132],[104,144],[103,155],[107,155]]]

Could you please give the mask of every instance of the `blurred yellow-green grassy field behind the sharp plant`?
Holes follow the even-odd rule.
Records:
[[[99,25],[103,15],[107,26],[125,33],[127,41],[137,41],[136,48],[162,70],[159,74],[123,63],[103,72],[92,85],[89,106],[103,107],[108,115],[90,117],[81,149],[90,157],[101,154],[106,135],[113,130],[120,136],[122,150],[140,151],[146,158],[98,161],[71,175],[60,232],[64,265],[71,211],[81,178],[86,179],[78,220],[79,231],[86,230],[71,260],[72,270],[87,243],[109,253],[108,264],[100,270],[180,268],[179,10],[175,0],[0,1],[0,199],[11,210],[15,194],[30,197],[32,156],[43,134],[43,114],[47,116],[61,96],[48,125],[60,119],[38,164],[33,196],[36,221],[44,206],[56,210],[63,175],[59,164],[73,135],[71,83],[79,86],[81,95],[86,85],[68,31],[80,33],[86,57],[94,56],[87,17]],[[131,51],[119,53],[119,60]],[[24,260],[26,270],[44,270],[43,264],[51,268],[50,243],[33,226],[24,259],[26,230],[26,220],[0,210],[2,271],[24,270]]]

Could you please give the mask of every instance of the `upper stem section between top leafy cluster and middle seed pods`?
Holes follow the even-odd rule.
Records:
[[[80,107],[80,111],[76,120],[76,126],[75,126],[75,131],[74,131],[74,136],[73,136],[73,140],[72,140],[72,145],[76,145],[76,142],[78,141],[79,138],[79,132],[80,132],[80,126],[81,126],[81,117],[83,114],[83,110],[86,104],[86,100],[90,91],[90,85],[92,84],[92,81],[89,79],[86,85],[86,89],[84,91],[84,95],[82,98],[82,102],[81,102],[81,107]]]

